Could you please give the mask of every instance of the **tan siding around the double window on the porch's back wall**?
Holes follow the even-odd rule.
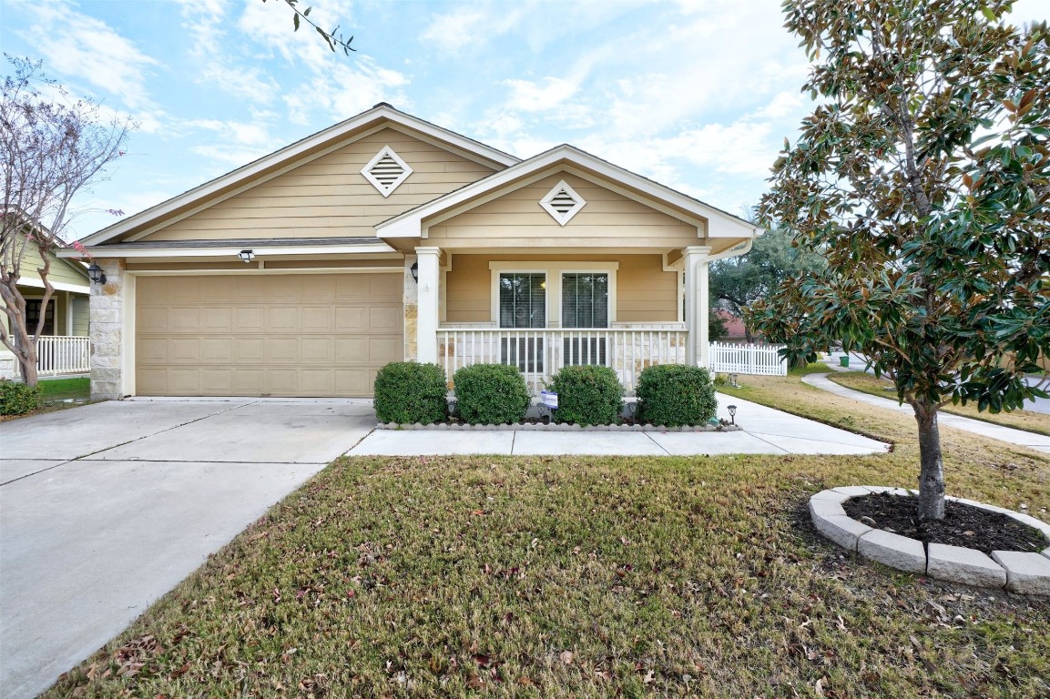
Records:
[[[578,190],[579,191],[579,190]],[[445,322],[491,322],[491,261],[618,263],[616,322],[655,323],[678,319],[678,275],[665,272],[659,255],[454,255],[445,275]]]

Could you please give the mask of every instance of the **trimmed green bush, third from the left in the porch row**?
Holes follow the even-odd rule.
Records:
[[[624,386],[608,366],[566,366],[550,380],[558,394],[559,422],[611,425],[620,422]]]

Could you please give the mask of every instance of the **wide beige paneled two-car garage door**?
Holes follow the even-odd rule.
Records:
[[[140,396],[371,396],[403,356],[403,276],[140,276]]]

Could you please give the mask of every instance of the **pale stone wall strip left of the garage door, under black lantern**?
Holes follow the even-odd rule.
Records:
[[[91,284],[91,400],[124,398],[124,260],[97,259],[105,284]]]

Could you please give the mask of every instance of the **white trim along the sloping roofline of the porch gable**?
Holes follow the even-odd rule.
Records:
[[[601,161],[589,153],[585,153],[568,145],[559,146],[533,158],[512,165],[484,179],[440,196],[422,207],[406,211],[403,214],[377,224],[375,228],[379,235],[384,238],[419,237],[424,218],[448,211],[452,208],[469,202],[476,196],[489,193],[502,187],[509,185],[522,187],[524,185],[519,184],[517,181],[524,175],[548,168],[561,168],[572,172],[572,174],[584,176],[580,174],[579,170],[572,169],[572,165],[586,168],[586,170],[592,172],[593,174],[588,179],[596,175],[628,186],[629,190],[620,190],[618,193],[625,193],[631,196],[631,198],[645,203],[648,206],[664,203],[682,209],[687,213],[675,212],[670,214],[680,220],[688,220],[689,214],[698,216],[704,225],[702,230],[698,230],[698,233],[704,233],[706,237],[750,238],[758,235],[758,232],[761,230],[757,226],[752,226],[714,207],[710,207],[685,194],[658,185],[651,179],[646,179],[633,172]],[[603,184],[603,186],[608,185]],[[612,189],[612,187],[609,187],[609,189]],[[617,190],[613,189],[612,191]],[[648,199],[652,199],[652,203],[649,203]],[[472,208],[474,206],[479,206],[479,204],[470,204],[468,208]]]

